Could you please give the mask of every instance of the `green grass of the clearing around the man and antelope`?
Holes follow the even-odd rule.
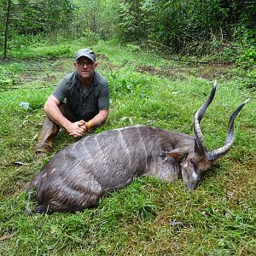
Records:
[[[169,184],[143,177],[84,212],[26,216],[26,186],[44,165],[34,154],[44,102],[73,70],[71,58],[84,46],[40,46],[29,59],[24,49],[20,59],[1,63],[11,82],[0,84],[0,254],[255,255],[256,102],[252,92],[237,86],[245,78],[232,67],[190,66],[131,45],[92,46],[111,92],[107,125],[97,132],[149,124],[192,135],[194,114],[218,79],[201,122],[207,148],[223,145],[230,113],[252,98],[236,118],[230,152],[192,193],[180,180]],[[67,56],[56,54],[62,49],[70,50]],[[55,52],[54,59],[48,52]],[[20,102],[29,102],[29,108]],[[60,134],[52,155],[73,141]]]

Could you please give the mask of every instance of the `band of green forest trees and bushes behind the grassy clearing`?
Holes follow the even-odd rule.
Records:
[[[255,60],[255,1],[1,0],[0,20],[5,57],[35,40],[84,37],[246,65]]]

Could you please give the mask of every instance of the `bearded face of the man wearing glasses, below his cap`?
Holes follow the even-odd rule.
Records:
[[[89,58],[83,56],[74,62],[74,67],[77,69],[79,77],[86,80],[93,76],[97,67],[97,62],[93,63]]]

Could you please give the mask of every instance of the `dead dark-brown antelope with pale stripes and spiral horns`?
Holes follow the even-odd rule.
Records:
[[[134,125],[84,137],[64,148],[33,179],[39,206],[33,212],[75,212],[96,205],[107,191],[121,189],[134,177],[152,175],[172,183],[182,177],[189,190],[195,189],[201,173],[226,154],[234,142],[232,115],[224,146],[207,151],[200,128],[201,119],[215,95],[195,113],[191,137],[150,125]]]

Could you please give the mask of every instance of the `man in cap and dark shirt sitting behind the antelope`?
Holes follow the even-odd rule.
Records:
[[[46,117],[36,145],[38,159],[49,153],[61,127],[73,137],[83,137],[85,131],[108,118],[108,81],[96,72],[95,53],[80,49],[74,67],[76,70],[61,80],[44,104]]]

